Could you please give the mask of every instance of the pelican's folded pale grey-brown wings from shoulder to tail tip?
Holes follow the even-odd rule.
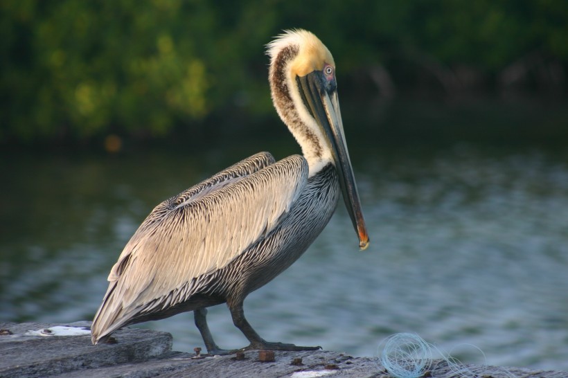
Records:
[[[155,308],[160,298],[169,296],[168,306],[183,302],[192,293],[176,295],[176,303],[170,294],[226,267],[278,225],[305,186],[308,163],[294,155],[269,165],[261,157],[251,156],[154,208],[109,275],[93,325],[99,337],[147,311],[148,304]]]

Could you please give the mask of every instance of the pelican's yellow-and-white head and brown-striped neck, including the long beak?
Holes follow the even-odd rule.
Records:
[[[333,57],[306,30],[287,30],[267,47],[274,107],[301,146],[310,176],[330,162],[335,165],[359,246],[365,249],[369,235],[345,142]]]

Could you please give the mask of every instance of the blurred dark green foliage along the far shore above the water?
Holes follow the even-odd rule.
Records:
[[[565,0],[3,0],[0,12],[0,142],[267,114],[263,46],[283,28],[319,35],[344,74],[393,56],[489,74],[534,51],[568,62]]]

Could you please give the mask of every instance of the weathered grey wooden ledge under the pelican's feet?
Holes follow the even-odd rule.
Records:
[[[69,325],[85,327],[90,323]],[[12,332],[0,336],[0,377],[288,377],[294,372],[323,372],[327,373],[326,377],[388,377],[378,358],[350,357],[339,352],[276,351],[272,363],[262,363],[256,358],[238,359],[234,355],[195,358],[193,353],[172,352],[172,336],[164,332],[124,329],[114,333],[114,344],[91,345],[88,334],[48,336],[57,332],[41,332],[55,330],[54,326],[0,323],[0,329]],[[26,335],[28,330],[34,330],[38,335]],[[425,372],[425,377],[428,376],[565,378],[568,372],[448,366],[445,361],[436,360]]]

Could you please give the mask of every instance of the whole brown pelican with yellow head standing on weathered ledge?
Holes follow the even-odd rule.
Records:
[[[303,156],[260,152],[159,204],[114,264],[95,315],[94,344],[118,328],[193,311],[209,354],[220,350],[206,307],[227,303],[249,339],[245,349],[314,350],[269,343],[242,309],[251,292],[308,249],[337,207],[339,192],[364,249],[369,236],[344,139],[335,63],[321,41],[290,30],[267,45],[274,107]]]

